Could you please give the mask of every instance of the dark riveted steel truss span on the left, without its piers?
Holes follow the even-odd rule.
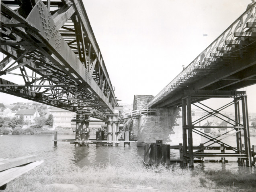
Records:
[[[118,106],[82,0],[2,0],[0,91],[103,118]]]

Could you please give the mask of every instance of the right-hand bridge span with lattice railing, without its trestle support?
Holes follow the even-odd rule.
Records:
[[[176,76],[147,107],[184,90],[236,90],[256,84],[256,2]],[[175,101],[174,101],[175,102]],[[160,104],[160,105],[159,105]]]

